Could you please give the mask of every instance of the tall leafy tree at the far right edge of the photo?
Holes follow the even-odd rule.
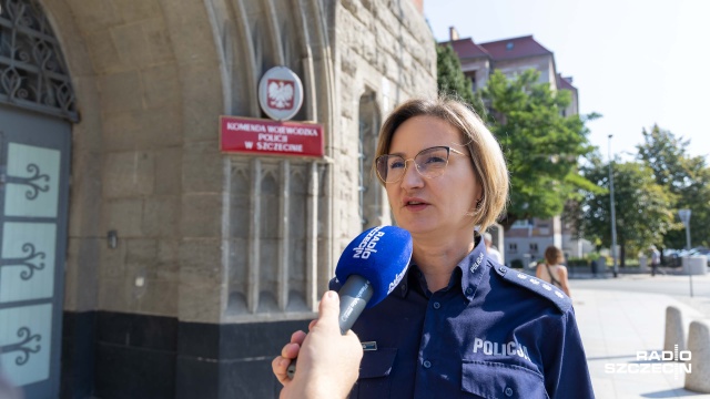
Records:
[[[656,183],[670,194],[670,208],[677,216],[678,209],[692,211],[690,231],[696,245],[710,245],[710,170],[701,156],[688,154],[690,141],[677,137],[673,133],[653,125],[643,130],[643,143],[637,146],[638,160],[652,172]],[[665,247],[683,248],[686,231],[677,219],[659,243]]]

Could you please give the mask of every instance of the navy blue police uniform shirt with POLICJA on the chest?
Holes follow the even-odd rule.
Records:
[[[410,264],[353,331],[364,356],[351,398],[594,398],[571,300],[488,259],[483,239],[436,293]]]

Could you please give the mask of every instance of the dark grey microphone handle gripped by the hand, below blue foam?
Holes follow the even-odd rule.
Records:
[[[367,301],[373,297],[373,285],[365,277],[358,275],[347,277],[347,282],[337,291],[341,297],[341,314],[337,321],[342,335],[345,335],[353,327],[357,317],[365,310]],[[286,375],[291,379],[296,374],[297,360],[297,358],[291,360],[291,365],[286,369]]]

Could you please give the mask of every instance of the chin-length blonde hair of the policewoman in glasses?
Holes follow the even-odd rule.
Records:
[[[505,211],[508,201],[508,167],[500,144],[476,112],[465,103],[450,96],[412,99],[392,111],[382,125],[375,158],[389,152],[397,129],[415,116],[438,117],[460,132],[464,141],[462,144],[470,153],[476,180],[483,188],[480,205],[476,205],[470,216],[479,231],[484,232]]]

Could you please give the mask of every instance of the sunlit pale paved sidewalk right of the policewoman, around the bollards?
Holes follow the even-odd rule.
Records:
[[[682,371],[638,371],[648,364],[638,351],[663,349],[667,306],[681,309],[687,324],[703,318],[700,311],[668,295],[576,288],[572,296],[597,398],[710,398],[683,389]]]

